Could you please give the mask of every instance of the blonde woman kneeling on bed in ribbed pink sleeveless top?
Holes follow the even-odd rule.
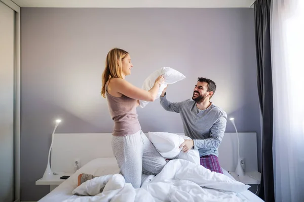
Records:
[[[108,108],[115,123],[112,150],[121,174],[134,188],[141,184],[141,174],[157,175],[166,165],[165,159],[141,131],[136,107],[139,100],[154,101],[164,78],[159,76],[149,91],[140,89],[125,77],[133,65],[128,52],[113,48],[107,54],[102,74],[101,94],[107,98]],[[94,176],[79,176],[79,184]]]

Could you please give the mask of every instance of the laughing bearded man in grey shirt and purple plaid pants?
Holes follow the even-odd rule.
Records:
[[[180,145],[182,151],[198,149],[202,166],[223,173],[218,162],[218,146],[226,128],[227,114],[210,102],[215,90],[216,84],[212,80],[199,77],[192,99],[171,103],[166,98],[165,88],[160,102],[165,110],[180,114],[184,133],[192,138]]]

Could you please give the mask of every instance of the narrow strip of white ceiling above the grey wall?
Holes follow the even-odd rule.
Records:
[[[11,0],[19,7],[49,8],[252,8],[255,0]]]

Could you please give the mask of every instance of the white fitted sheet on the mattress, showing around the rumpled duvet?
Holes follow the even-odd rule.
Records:
[[[227,173],[227,171],[223,170],[226,176],[229,176],[231,179],[233,177]],[[64,200],[79,200],[83,199],[86,196],[78,196],[73,195],[72,191],[77,187],[78,175],[80,173],[88,173],[96,176],[103,176],[108,174],[116,174],[119,173],[119,168],[117,166],[117,162],[115,158],[100,158],[95,159],[81,169],[79,169],[75,174],[69,177],[65,182],[56,187],[52,192],[43,197],[39,202],[50,202],[50,201],[64,201]],[[147,184],[153,177],[144,176],[142,178],[142,184]],[[144,193],[143,193],[144,194]],[[250,192],[249,190],[245,190],[242,193],[239,193],[238,196],[244,199],[244,201],[250,202],[261,202],[262,200],[257,197],[255,194]],[[90,196],[92,197],[92,196]]]

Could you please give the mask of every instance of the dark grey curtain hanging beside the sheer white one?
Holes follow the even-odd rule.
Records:
[[[262,114],[262,170],[258,196],[265,202],[275,201],[270,7],[271,0],[256,0],[254,3],[257,87]]]

